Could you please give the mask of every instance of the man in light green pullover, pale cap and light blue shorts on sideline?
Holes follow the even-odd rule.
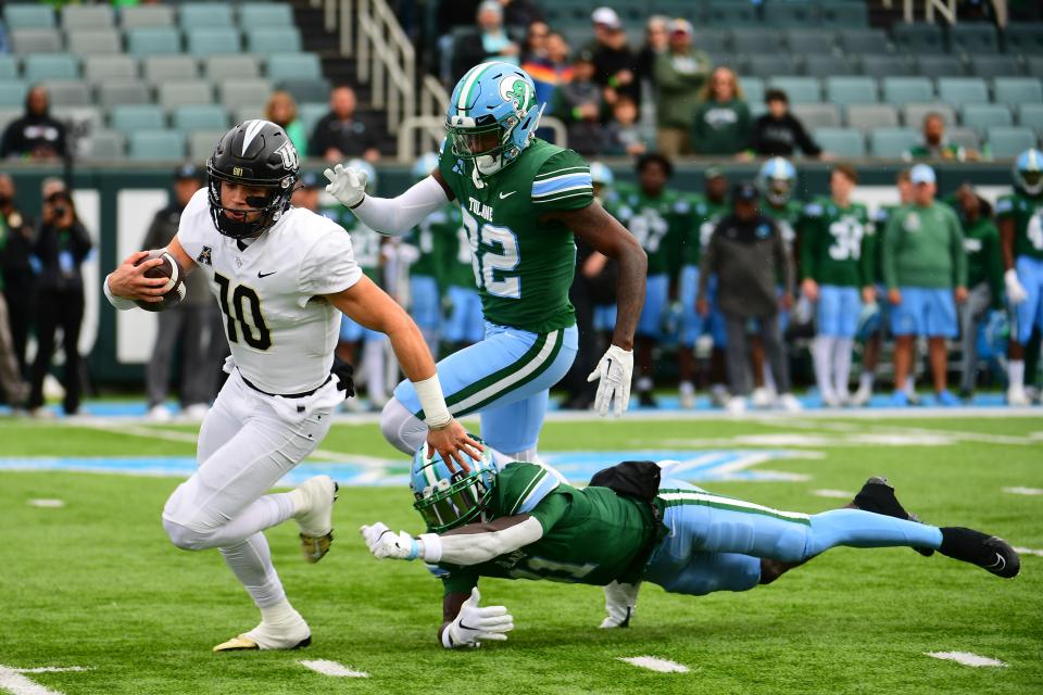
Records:
[[[913,202],[894,212],[883,237],[883,281],[888,287],[894,334],[894,395],[909,404],[905,390],[913,362],[913,339],[926,336],[938,405],[959,401],[945,388],[945,339],[956,338],[956,302],[967,300],[964,233],[953,208],[937,203],[934,169],[917,164],[909,172]]]

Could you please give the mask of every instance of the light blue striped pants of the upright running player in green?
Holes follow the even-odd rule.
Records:
[[[505,454],[535,448],[550,388],[568,371],[578,350],[576,326],[533,333],[486,323],[486,337],[438,363],[445,405],[454,417],[481,414],[481,437]],[[395,403],[398,402],[398,403]],[[402,408],[412,421],[403,421]],[[404,453],[426,437],[424,412],[409,380],[394,390],[381,430]]]

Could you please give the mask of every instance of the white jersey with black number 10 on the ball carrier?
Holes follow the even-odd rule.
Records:
[[[236,367],[269,393],[303,393],[329,377],[340,332],[334,294],[362,277],[351,238],[336,223],[291,207],[240,250],[217,231],[208,189],[181,213],[177,238],[204,273],[224,315]]]

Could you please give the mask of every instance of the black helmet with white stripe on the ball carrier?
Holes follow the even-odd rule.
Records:
[[[286,131],[269,121],[247,121],[226,132],[206,162],[210,214],[217,231],[234,239],[247,239],[271,229],[290,207],[300,172],[297,149]],[[247,199],[246,210],[221,204],[222,182],[257,186],[264,195]],[[225,212],[261,212],[253,222],[239,222]]]

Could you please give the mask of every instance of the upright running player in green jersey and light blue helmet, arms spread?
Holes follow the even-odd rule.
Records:
[[[568,288],[577,235],[619,263],[613,344],[590,379],[595,408],[627,407],[633,331],[644,299],[645,256],[633,237],[593,203],[590,170],[573,152],[535,137],[540,106],[532,78],[515,65],[481,63],[453,89],[438,168],[395,199],[365,192],[352,168],[327,169],[326,188],[373,229],[400,235],[456,200],[481,295],[481,342],[439,363],[450,413],[481,413],[486,441],[512,458],[535,460],[548,390],[577,350]],[[412,453],[424,439],[424,405],[403,381],[381,416],[392,445]]]

